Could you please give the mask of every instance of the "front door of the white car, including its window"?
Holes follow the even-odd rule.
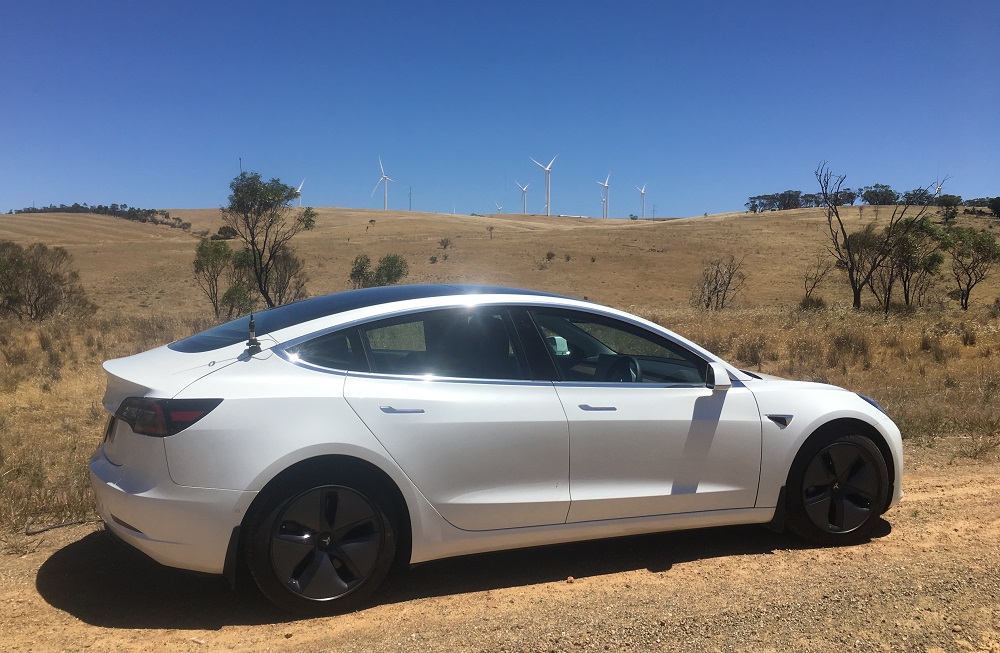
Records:
[[[560,309],[531,315],[569,421],[567,521],[753,507],[761,424],[749,390],[708,388],[700,356],[641,326]]]

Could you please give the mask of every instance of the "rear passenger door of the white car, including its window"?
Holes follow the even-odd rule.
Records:
[[[451,524],[561,524],[569,432],[549,382],[528,378],[505,310],[427,311],[359,327],[371,373],[345,398]]]

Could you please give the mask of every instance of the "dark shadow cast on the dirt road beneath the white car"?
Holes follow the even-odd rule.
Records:
[[[881,520],[875,537],[890,530]],[[486,553],[395,574],[372,601],[400,603],[642,569],[661,573],[684,562],[809,546],[758,526],[731,526]],[[53,553],[38,570],[36,587],[53,607],[105,628],[217,630],[295,619],[255,591],[233,591],[219,577],[164,567],[104,531]]]

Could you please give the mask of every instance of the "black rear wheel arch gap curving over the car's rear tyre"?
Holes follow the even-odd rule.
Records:
[[[413,543],[413,528],[410,519],[409,507],[403,493],[395,481],[377,465],[367,460],[343,454],[324,454],[300,460],[282,471],[278,472],[268,481],[264,487],[257,492],[257,496],[250,503],[240,525],[233,529],[230,545],[226,552],[226,563],[224,575],[230,584],[236,585],[239,577],[249,574],[245,566],[246,537],[244,528],[246,524],[257,517],[257,512],[261,506],[265,505],[268,498],[275,493],[288,492],[295,479],[301,476],[321,475],[329,477],[330,480],[350,481],[351,478],[365,478],[368,481],[374,480],[377,486],[385,493],[384,500],[388,501],[395,513],[397,521],[396,527],[396,554],[393,560],[393,567],[400,568],[409,565],[410,552]],[[244,574],[246,572],[246,574]]]

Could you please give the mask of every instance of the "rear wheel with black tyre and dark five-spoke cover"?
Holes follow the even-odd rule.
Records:
[[[363,479],[296,479],[264,498],[251,519],[247,565],[261,592],[299,615],[361,607],[396,553],[396,519]]]

